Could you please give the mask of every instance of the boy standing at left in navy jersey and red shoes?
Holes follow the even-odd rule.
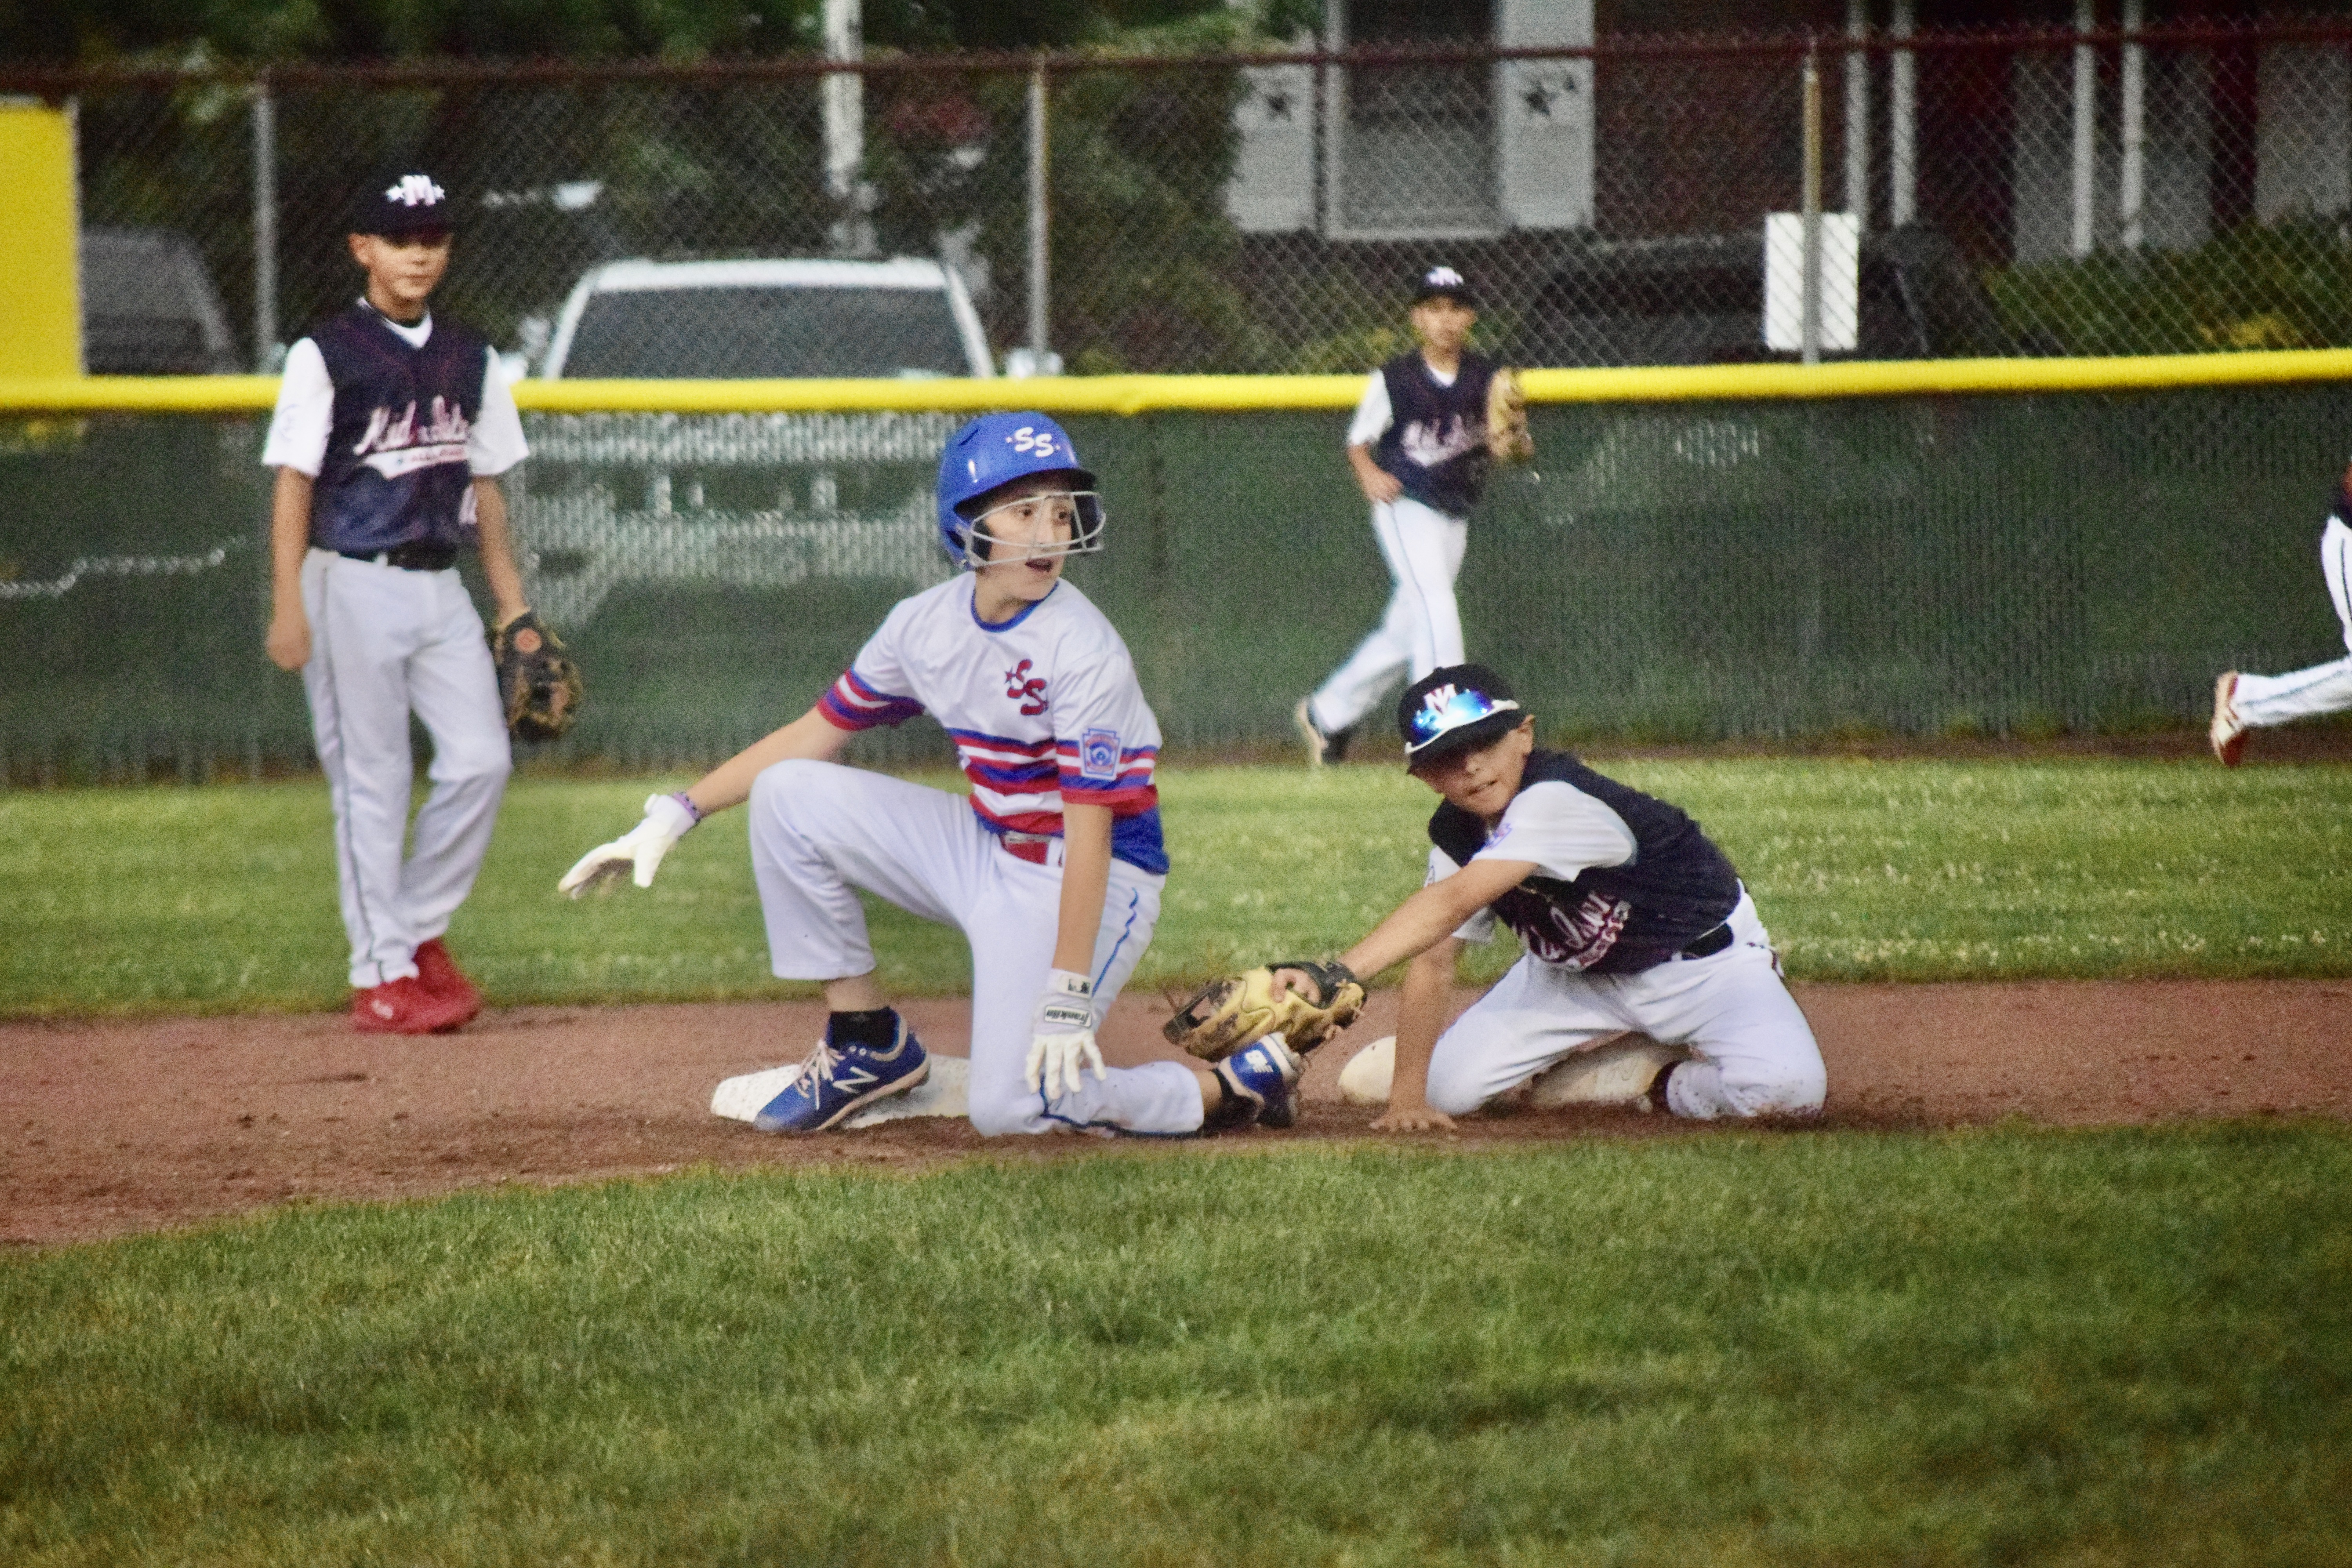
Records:
[[[529,454],[515,397],[489,343],[426,310],[449,233],[449,197],[426,174],[360,193],[350,254],[367,292],[287,353],[261,454],[278,470],[266,649],[310,698],[350,1020],[374,1034],[482,1011],[442,931],[482,870],[513,752],[459,550],[480,545],[496,625],[529,609],[496,480]],[[402,853],[412,712],[433,736],[433,792]]]

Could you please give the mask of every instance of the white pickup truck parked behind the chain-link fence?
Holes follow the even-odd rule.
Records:
[[[993,376],[953,268],[612,261],[572,289],[541,376]],[[623,583],[790,588],[946,576],[931,520],[950,414],[536,414],[517,522],[555,625]]]

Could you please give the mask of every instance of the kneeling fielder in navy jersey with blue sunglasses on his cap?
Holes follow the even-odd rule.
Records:
[[[1649,1086],[1677,1117],[1820,1110],[1813,1030],[1755,900],[1698,823],[1538,748],[1536,722],[1482,665],[1414,682],[1397,729],[1406,766],[1444,804],[1430,818],[1428,886],[1341,959],[1359,976],[1414,959],[1376,1128],[1454,1126],[1625,1032],[1689,1051]],[[1526,957],[1444,1027],[1461,945],[1496,922]]]

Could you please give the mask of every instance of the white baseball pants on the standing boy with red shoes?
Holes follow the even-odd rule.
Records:
[[[350,985],[416,973],[416,945],[449,917],[489,853],[515,766],[482,616],[456,569],[402,571],[310,550],[310,733],[334,802],[334,865],[350,936]],[[433,790],[409,839],[409,715],[433,736]]]

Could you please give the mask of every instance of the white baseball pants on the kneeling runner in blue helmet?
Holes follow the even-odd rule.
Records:
[[[750,865],[779,980],[870,973],[866,889],[971,943],[971,1126],[985,1135],[1054,1131],[1197,1133],[1200,1086],[1178,1063],[1080,1077],[1047,1100],[1023,1081],[1037,994],[1061,924],[1061,844],[1018,860],[971,802],[833,762],[779,762],[750,788]],[[1094,943],[1094,1009],[1110,1011],[1160,924],[1167,877],[1110,863]]]

